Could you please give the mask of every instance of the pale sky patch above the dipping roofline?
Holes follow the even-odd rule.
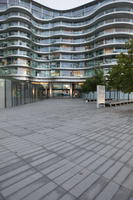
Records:
[[[43,3],[45,6],[58,10],[66,10],[74,8],[85,3],[91,2],[92,0],[35,0]]]

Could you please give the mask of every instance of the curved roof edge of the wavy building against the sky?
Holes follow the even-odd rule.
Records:
[[[51,7],[45,6],[45,4],[42,4],[41,2],[37,2],[36,0],[32,0],[32,1],[34,1],[35,3],[37,3],[37,4],[41,5],[41,6],[44,6],[44,7],[47,8],[47,9],[53,10],[53,11],[67,12],[67,11],[73,11],[73,10],[80,9],[80,8],[82,8],[83,6],[86,6],[86,5],[92,6],[92,5],[94,5],[94,4],[96,4],[96,3],[99,3],[99,2],[101,2],[101,1],[103,1],[103,0],[92,0],[91,2],[82,4],[82,5],[80,5],[80,6],[76,6],[76,7],[74,7],[74,8],[68,8],[68,9],[65,9],[65,10],[64,10],[64,9],[55,9],[55,8],[51,8]]]

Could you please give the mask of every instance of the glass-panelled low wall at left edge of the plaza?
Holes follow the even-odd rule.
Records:
[[[0,79],[0,108],[14,107],[43,99],[43,87],[30,82]]]

